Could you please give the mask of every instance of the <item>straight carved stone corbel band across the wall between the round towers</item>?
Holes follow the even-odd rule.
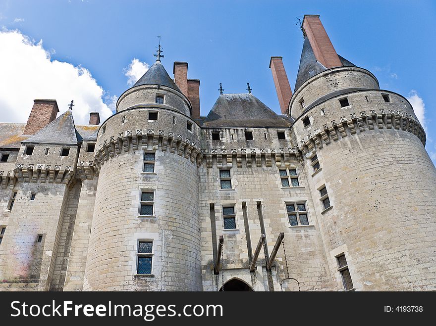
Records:
[[[264,157],[265,164],[267,167],[272,166],[272,161],[275,162],[276,166],[290,166],[290,156],[294,155],[299,161],[302,160],[301,154],[298,152],[298,147],[295,148],[232,148],[228,149],[212,149],[210,152],[208,150],[203,151],[206,157],[206,167],[212,168],[213,158],[217,158],[218,168],[223,167],[223,163],[227,167],[231,167],[233,161],[236,160],[236,166],[238,168],[242,167],[252,167],[256,165],[257,167],[262,167],[262,157]],[[243,160],[242,158],[245,158]],[[244,164],[245,162],[245,164]]]

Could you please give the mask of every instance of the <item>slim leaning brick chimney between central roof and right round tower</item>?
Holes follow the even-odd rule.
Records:
[[[281,114],[287,114],[289,101],[292,97],[291,86],[283,66],[283,57],[272,56],[270,68],[272,79],[274,80],[275,91],[277,92],[278,102],[280,103]]]

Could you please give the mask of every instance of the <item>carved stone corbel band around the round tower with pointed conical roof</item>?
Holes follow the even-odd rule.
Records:
[[[155,134],[153,129],[137,129],[120,132],[116,137],[110,136],[109,139],[105,139],[100,143],[94,156],[94,170],[98,174],[110,157],[122,152],[138,150],[147,147],[149,144],[153,146],[154,150],[160,149],[163,152],[177,153],[192,163],[196,163],[197,167],[201,165],[203,157],[201,148],[189,138],[163,130],[159,130]]]

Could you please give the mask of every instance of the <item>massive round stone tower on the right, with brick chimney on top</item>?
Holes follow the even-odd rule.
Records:
[[[403,96],[339,56],[319,16],[289,113],[335,290],[436,289],[436,169]]]

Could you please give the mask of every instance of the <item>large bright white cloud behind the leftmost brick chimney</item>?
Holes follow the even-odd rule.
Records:
[[[88,124],[89,112],[100,112],[101,121],[112,115],[109,96],[89,70],[51,59],[38,43],[20,31],[0,31],[0,112],[2,122],[26,122],[35,98],[57,100],[60,113],[74,99],[73,116],[78,125]],[[109,104],[107,104],[109,103]],[[110,106],[110,108],[109,108]]]

